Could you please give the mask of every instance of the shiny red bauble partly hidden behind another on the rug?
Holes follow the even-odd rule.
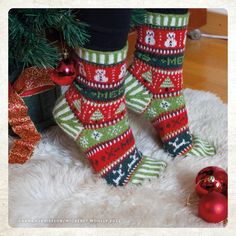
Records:
[[[228,175],[224,169],[216,166],[209,166],[198,173],[195,190],[199,197],[213,191],[227,196],[227,182]]]

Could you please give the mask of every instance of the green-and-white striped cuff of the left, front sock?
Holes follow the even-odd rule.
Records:
[[[124,48],[118,51],[102,52],[86,48],[77,48],[76,53],[81,59],[91,63],[113,65],[120,63],[126,59],[127,50],[128,43]]]

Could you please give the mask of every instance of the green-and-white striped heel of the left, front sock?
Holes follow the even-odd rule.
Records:
[[[78,122],[77,118],[70,110],[64,96],[58,99],[53,110],[53,116],[62,130],[65,131],[74,140],[84,129],[83,125]]]

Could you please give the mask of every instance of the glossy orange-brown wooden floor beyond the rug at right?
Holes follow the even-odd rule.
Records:
[[[184,87],[217,94],[227,103],[227,41],[188,39],[184,61]]]

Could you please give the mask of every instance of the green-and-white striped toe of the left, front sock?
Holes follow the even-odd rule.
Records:
[[[164,161],[144,157],[130,181],[133,184],[141,184],[145,180],[159,177],[166,166],[167,164]]]

